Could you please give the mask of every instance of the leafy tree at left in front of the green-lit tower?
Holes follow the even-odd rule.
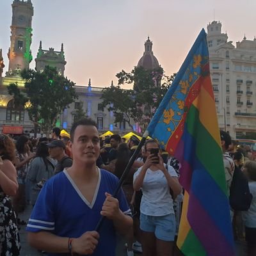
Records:
[[[52,67],[45,67],[43,72],[22,70],[20,76],[25,80],[24,88],[12,83],[8,86],[8,93],[13,95],[15,106],[27,107],[35,131],[39,126],[49,134],[63,109],[77,99],[75,83]]]

